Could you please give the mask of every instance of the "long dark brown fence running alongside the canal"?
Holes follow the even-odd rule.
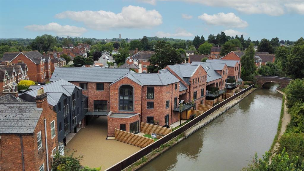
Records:
[[[154,143],[144,147],[140,151],[134,153],[133,155],[130,155],[128,158],[122,160],[121,162],[116,163],[114,166],[111,166],[110,168],[106,169],[107,171],[116,171],[116,170],[123,170],[126,167],[130,166],[132,163],[136,162],[137,160],[141,159],[143,156],[149,154],[154,149],[160,147],[162,144],[165,144],[166,142],[172,140],[179,134],[185,132],[190,127],[197,124],[199,121],[203,120],[207,116],[209,116],[214,111],[218,110],[220,107],[223,107],[225,104],[231,102],[233,99],[237,98],[238,96],[244,94],[248,90],[252,89],[254,85],[250,85],[247,89],[244,89],[243,91],[231,96],[230,98],[224,100],[223,102],[217,104],[216,106],[213,106],[211,109],[207,110],[203,114],[199,115],[198,117],[195,117],[193,120],[190,120],[185,125],[179,127],[178,129],[174,130],[170,134],[165,135],[163,138],[160,138],[159,140],[155,141]],[[116,130],[115,130],[116,131]],[[118,130],[120,131],[120,130]],[[125,131],[124,131],[125,132]],[[150,139],[150,138],[149,138]]]

